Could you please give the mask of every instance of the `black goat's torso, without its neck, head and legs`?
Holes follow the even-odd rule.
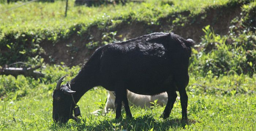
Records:
[[[190,46],[190,41],[173,33],[105,45],[98,49],[101,86],[114,91],[118,84],[143,95],[165,92],[178,70],[188,70]]]

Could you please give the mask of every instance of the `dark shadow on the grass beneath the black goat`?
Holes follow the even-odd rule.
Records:
[[[86,119],[82,119],[79,123],[62,125],[64,128],[75,128],[76,130],[94,130],[94,131],[112,131],[112,130],[150,130],[154,128],[157,131],[165,131],[169,128],[185,128],[185,123],[181,122],[181,119],[154,119],[151,115],[145,115],[138,118],[127,118],[127,119],[110,119],[110,120],[99,120],[93,123],[89,122],[87,125]],[[195,120],[189,120],[188,124],[196,123]],[[59,125],[60,126],[60,125]],[[54,130],[54,127],[52,128]],[[56,129],[56,128],[55,128]]]

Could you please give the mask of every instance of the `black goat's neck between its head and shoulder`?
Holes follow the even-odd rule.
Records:
[[[91,88],[97,86],[94,78],[95,74],[92,74],[91,71],[82,70],[79,71],[78,75],[70,82],[70,87],[72,91],[76,91],[73,96],[76,103],[80,98]]]

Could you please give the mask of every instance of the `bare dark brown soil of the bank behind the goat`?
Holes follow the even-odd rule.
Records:
[[[190,12],[188,11],[181,12],[179,14],[187,17],[184,26],[172,24],[172,21],[179,14],[171,14],[168,17],[162,18],[159,21],[159,25],[148,25],[147,23],[134,21],[130,24],[121,23],[108,31],[102,31],[97,26],[92,26],[82,36],[74,34],[68,40],[61,40],[54,46],[46,41],[42,42],[40,45],[45,50],[45,53],[41,56],[45,58],[46,63],[59,64],[63,61],[68,66],[82,64],[89,59],[96,49],[88,49],[86,44],[91,40],[101,42],[102,33],[110,31],[117,31],[116,36],[122,35],[121,38],[116,38],[120,41],[124,38],[128,40],[152,32],[172,31],[185,39],[190,38],[196,41],[196,43],[199,43],[200,37],[204,35],[202,28],[206,25],[210,25],[214,29],[214,32],[219,35],[227,34],[231,20],[240,15],[241,5],[236,4],[227,7],[209,8],[206,13],[199,14],[195,17],[189,17]],[[89,40],[90,36],[93,36],[93,39]],[[67,46],[71,43],[72,46]]]

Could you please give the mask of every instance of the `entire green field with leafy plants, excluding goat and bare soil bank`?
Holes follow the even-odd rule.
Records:
[[[237,1],[232,2],[237,3]],[[74,1],[69,0],[68,16],[65,18],[63,17],[64,1],[34,2],[0,14],[0,45],[8,47],[9,51],[17,52],[12,49],[23,49],[23,46],[32,43],[35,48],[38,46],[39,50],[37,44],[44,39],[48,39],[51,41],[50,44],[53,44],[54,41],[66,37],[68,39],[72,33],[82,34],[91,25],[108,28],[106,23],[109,21],[113,26],[123,21],[132,23],[135,20],[146,21],[146,24],[157,24],[159,19],[171,13],[190,11],[190,15],[195,15],[203,13],[209,7],[225,7],[230,1],[173,0],[171,3],[173,4],[168,1],[146,1],[127,3],[124,6],[104,5],[89,8],[74,6]],[[22,2],[1,3],[0,10],[4,11],[19,4]],[[196,49],[192,49],[192,57],[189,61],[190,81],[186,88],[188,125],[180,123],[180,100],[174,104],[167,120],[160,118],[164,107],[159,105],[145,109],[131,106],[132,119],[126,118],[124,110],[122,110],[123,119],[119,120],[114,119],[114,111],[98,116],[92,115],[90,112],[104,107],[107,91],[103,87],[94,87],[79,101],[78,105],[82,112],[80,122],[69,120],[66,124],[53,123],[52,93],[56,82],[65,74],[68,74],[65,78],[65,82],[68,82],[74,78],[80,67],[67,67],[64,63],[47,64],[37,55],[29,57],[25,62],[42,64],[42,68],[38,71],[45,74],[44,78],[34,79],[23,75],[15,78],[10,75],[0,75],[0,130],[255,131],[256,35],[253,24],[255,7],[255,1],[242,5],[241,15],[232,20],[227,35],[215,34],[210,25],[203,28],[205,35],[201,36]],[[79,30],[73,30],[75,27],[79,27]],[[31,37],[25,37],[25,34]],[[16,45],[11,43],[13,39],[16,39],[14,40]],[[26,50],[18,50],[16,54],[26,55]],[[8,63],[8,59],[3,54],[0,55],[0,59]],[[4,66],[2,63],[0,65]]]

